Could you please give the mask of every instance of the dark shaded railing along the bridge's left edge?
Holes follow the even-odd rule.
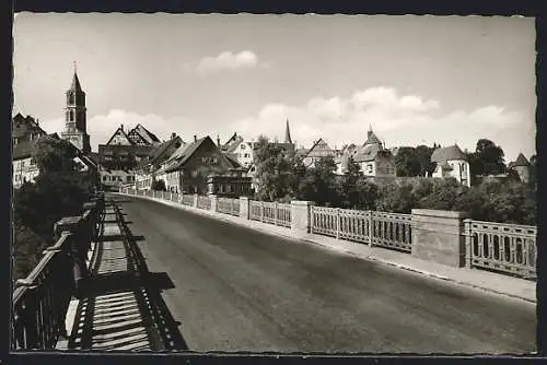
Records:
[[[84,208],[82,216],[71,217],[77,222],[73,229],[57,232],[58,239],[44,251],[36,268],[16,281],[12,295],[12,350],[55,349],[59,335],[66,335],[65,317],[79,280],[84,279],[81,260],[98,234],[104,198]]]

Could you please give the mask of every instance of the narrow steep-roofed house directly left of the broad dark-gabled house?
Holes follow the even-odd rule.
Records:
[[[164,180],[163,164],[171,158],[179,149],[187,145],[183,139],[175,133],[171,134],[171,139],[155,145],[143,158],[136,168],[135,187],[138,190],[149,190],[155,180]]]

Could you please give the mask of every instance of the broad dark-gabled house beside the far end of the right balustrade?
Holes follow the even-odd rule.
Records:
[[[251,178],[244,174],[237,161],[221,152],[210,137],[195,136],[193,143],[181,146],[163,162],[158,179],[175,192],[245,195]]]

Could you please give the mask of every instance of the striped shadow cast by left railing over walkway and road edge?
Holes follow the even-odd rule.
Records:
[[[75,315],[70,350],[184,351],[188,350],[162,297],[175,285],[165,272],[150,272],[119,205],[113,204],[121,234],[104,236],[97,248],[92,281]],[[104,243],[109,243],[106,258]],[[121,255],[120,252],[124,252]],[[112,255],[115,256],[112,259]],[[116,260],[98,272],[102,260]],[[119,261],[119,262],[118,262]],[[103,262],[104,263],[104,262]]]

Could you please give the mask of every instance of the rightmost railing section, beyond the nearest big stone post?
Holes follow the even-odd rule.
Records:
[[[465,220],[467,263],[536,279],[537,227]]]

